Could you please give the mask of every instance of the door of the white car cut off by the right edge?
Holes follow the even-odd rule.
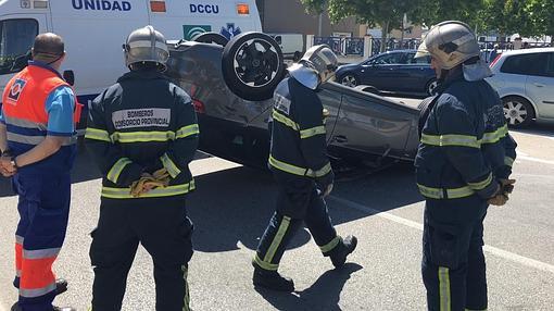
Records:
[[[525,91],[536,103],[538,116],[554,117],[554,52],[537,53],[537,72],[527,76]]]

